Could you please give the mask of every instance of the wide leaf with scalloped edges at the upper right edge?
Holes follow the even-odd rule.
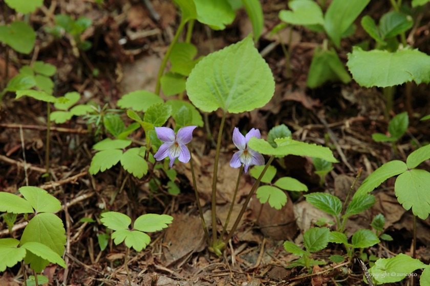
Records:
[[[354,46],[353,52],[348,54],[347,65],[353,79],[365,87],[387,87],[408,81],[430,82],[430,56],[418,50],[366,52]]]

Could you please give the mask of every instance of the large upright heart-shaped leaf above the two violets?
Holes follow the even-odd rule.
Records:
[[[186,87],[188,98],[203,111],[222,108],[240,113],[266,105],[273,97],[275,82],[248,36],[201,60]]]

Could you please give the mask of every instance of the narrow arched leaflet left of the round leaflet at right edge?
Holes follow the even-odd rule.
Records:
[[[357,189],[355,196],[362,196],[372,192],[383,181],[393,176],[399,175],[407,170],[404,162],[399,160],[390,161],[375,170],[369,177],[365,178],[361,186]]]

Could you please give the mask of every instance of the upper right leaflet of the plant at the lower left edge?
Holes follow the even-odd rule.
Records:
[[[36,212],[56,212],[61,209],[61,203],[44,189],[38,187],[20,187],[19,192],[36,210]]]

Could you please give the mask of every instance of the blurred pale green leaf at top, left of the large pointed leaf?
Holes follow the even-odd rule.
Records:
[[[312,0],[294,0],[288,3],[292,11],[281,10],[279,19],[292,25],[324,25],[319,5]]]

